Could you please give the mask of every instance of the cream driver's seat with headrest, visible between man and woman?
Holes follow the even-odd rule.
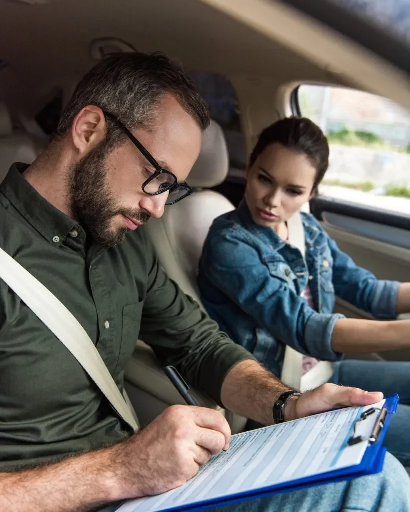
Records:
[[[225,181],[228,170],[229,156],[224,133],[216,122],[211,121],[203,136],[201,154],[187,179],[194,193],[180,203],[167,207],[161,219],[151,219],[144,227],[164,270],[201,308],[203,305],[199,297],[197,272],[202,248],[213,220],[234,209],[228,199],[206,188]],[[144,375],[146,377],[142,378]],[[141,341],[138,342],[125,376],[147,393],[166,403],[175,403],[171,401],[175,400],[175,390],[170,384],[165,386],[164,374],[159,369],[153,351]],[[206,398],[202,398],[201,403],[206,407],[217,408],[217,404]],[[225,411],[225,415],[233,433],[243,430],[246,422],[244,418],[229,411]]]

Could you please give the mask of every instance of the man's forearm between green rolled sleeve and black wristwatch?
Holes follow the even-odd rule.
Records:
[[[221,391],[224,407],[264,425],[273,424],[273,404],[289,391],[258,362],[239,362],[227,374]]]

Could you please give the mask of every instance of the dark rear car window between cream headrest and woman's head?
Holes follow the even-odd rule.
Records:
[[[239,101],[231,82],[217,73],[196,71],[190,73],[196,86],[206,100],[210,116],[217,121],[225,134],[229,151],[231,176],[246,168],[245,140],[241,129]]]

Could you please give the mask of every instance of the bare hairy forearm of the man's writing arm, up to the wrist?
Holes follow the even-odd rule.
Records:
[[[0,510],[78,512],[117,497],[113,448],[20,473],[0,474]]]

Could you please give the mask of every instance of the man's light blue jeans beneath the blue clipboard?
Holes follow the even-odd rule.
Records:
[[[114,512],[116,507],[101,512]],[[210,510],[210,509],[209,509]],[[410,512],[410,479],[389,453],[383,472],[352,482],[311,487],[271,498],[212,509],[214,512]]]

